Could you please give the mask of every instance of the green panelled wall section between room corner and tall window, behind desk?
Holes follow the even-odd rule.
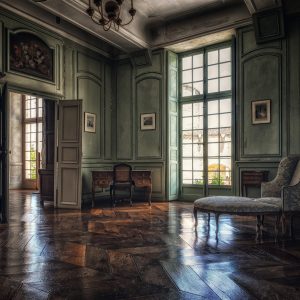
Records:
[[[152,53],[152,64],[135,67],[131,60],[116,63],[115,162],[136,170],[151,170],[153,198],[166,199],[166,54]],[[140,117],[155,113],[155,130],[142,131]]]

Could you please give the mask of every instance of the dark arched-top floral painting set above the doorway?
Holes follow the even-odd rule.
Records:
[[[9,32],[9,71],[54,82],[54,51],[29,32]]]

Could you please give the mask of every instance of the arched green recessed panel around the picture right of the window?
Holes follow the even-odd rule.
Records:
[[[243,157],[281,156],[281,72],[279,55],[243,62]],[[253,125],[251,103],[263,99],[271,100],[271,123]]]

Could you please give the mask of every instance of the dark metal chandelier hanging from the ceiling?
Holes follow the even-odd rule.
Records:
[[[131,23],[136,13],[136,10],[133,8],[133,0],[131,0],[131,7],[128,10],[131,18],[128,22],[123,23],[120,15],[124,0],[109,0],[106,2],[104,0],[94,0],[95,9],[92,7],[91,2],[92,0],[89,0],[89,8],[86,12],[93,22],[97,25],[101,25],[105,31],[108,31],[112,26],[118,31],[120,26],[126,26]],[[95,10],[99,12],[99,19],[95,16]]]

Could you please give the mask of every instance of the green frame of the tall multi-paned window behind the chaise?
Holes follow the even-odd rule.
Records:
[[[228,91],[222,91],[222,92],[216,92],[216,93],[208,93],[208,78],[207,78],[207,73],[208,73],[208,55],[207,53],[211,50],[221,50],[222,48],[231,48],[231,89]],[[182,70],[182,59],[184,57],[188,57],[191,55],[196,55],[199,53],[203,53],[203,94],[202,95],[192,95],[192,96],[182,96],[182,75],[183,75],[183,70]],[[209,189],[223,189],[223,190],[232,190],[234,187],[234,156],[235,156],[235,149],[234,149],[234,144],[235,144],[235,128],[234,128],[234,123],[235,123],[235,91],[234,91],[234,82],[235,82],[235,61],[234,61],[234,54],[235,54],[235,47],[234,47],[234,40],[222,42],[222,43],[217,43],[214,45],[210,45],[207,47],[201,47],[198,49],[194,49],[191,51],[183,52],[178,55],[179,57],[179,64],[178,64],[178,69],[179,69],[179,74],[178,74],[178,103],[179,103],[179,165],[180,165],[180,172],[179,172],[179,180],[180,180],[180,185],[181,189],[182,187],[200,187],[204,188],[207,190]],[[220,64],[220,63],[218,63]],[[193,67],[193,66],[192,66]],[[218,80],[222,77],[219,76],[220,71],[218,71]],[[193,74],[192,74],[193,76]],[[193,77],[192,77],[193,79]],[[207,148],[208,148],[208,141],[207,141],[207,122],[205,122],[205,119],[208,117],[207,113],[207,106],[208,102],[210,100],[221,100],[221,99],[226,99],[230,98],[231,99],[231,184],[230,185],[214,185],[214,184],[209,184],[208,183],[208,170],[207,170],[207,165],[208,165],[208,154],[207,154]],[[182,166],[182,105],[183,104],[188,104],[188,103],[197,103],[197,102],[203,102],[203,184],[186,184],[183,183],[183,166]],[[220,115],[220,112],[218,113]],[[220,126],[218,127],[220,128]],[[220,153],[218,154],[218,159],[220,159]]]

